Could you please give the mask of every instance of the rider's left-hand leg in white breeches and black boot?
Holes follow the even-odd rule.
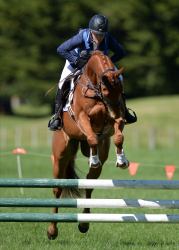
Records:
[[[61,88],[65,82],[65,78],[74,70],[70,63],[66,60],[63,68],[59,86],[55,96],[55,115],[52,116],[48,123],[48,128],[52,131],[57,131],[58,127],[62,127],[62,114],[63,114],[63,97],[61,95]]]

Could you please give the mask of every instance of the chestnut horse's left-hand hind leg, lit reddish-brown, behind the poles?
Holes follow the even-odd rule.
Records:
[[[73,150],[70,150],[69,138],[63,130],[54,132],[52,149],[54,155],[53,176],[54,179],[64,179],[66,176],[66,169],[74,154],[76,154],[77,145],[73,145]],[[74,150],[75,149],[75,150]],[[53,188],[54,198],[60,198],[62,194],[61,188]],[[58,213],[58,207],[54,208],[54,213]],[[47,230],[49,239],[54,240],[58,235],[57,222],[52,222]]]

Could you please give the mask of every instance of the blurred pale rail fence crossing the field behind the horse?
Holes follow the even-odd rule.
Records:
[[[168,130],[162,132],[162,134],[159,134],[159,132],[156,131],[155,127],[148,127],[145,132],[134,128],[129,132],[124,132],[125,141],[134,148],[146,146],[150,149],[154,149],[158,144],[163,144],[168,148],[174,148],[177,140],[179,140],[174,128],[168,128]],[[29,128],[17,126],[11,130],[8,130],[6,127],[0,127],[0,147],[51,146],[52,135],[53,132],[47,128],[35,126]]]

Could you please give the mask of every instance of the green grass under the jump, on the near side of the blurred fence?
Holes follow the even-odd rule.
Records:
[[[47,147],[37,149],[27,148],[27,154],[21,155],[23,178],[53,178],[51,151]],[[9,148],[9,152],[11,148]],[[42,156],[28,155],[28,152],[39,153]],[[160,179],[166,180],[165,164],[177,163],[177,151],[168,152],[164,149],[135,150],[126,149],[126,155],[131,161],[144,162],[135,176],[130,176],[128,170],[115,168],[115,152],[111,147],[108,161],[103,167],[100,178],[104,179]],[[167,157],[163,157],[167,155]],[[85,178],[88,173],[87,159],[79,152],[77,160],[78,174]],[[150,167],[151,163],[160,166]],[[147,164],[149,164],[147,166]],[[162,166],[163,165],[163,166]],[[3,166],[3,167],[2,167]],[[1,156],[1,178],[18,178],[16,155]],[[178,180],[179,168],[176,169],[173,180]],[[19,188],[1,189],[1,197],[22,197]],[[24,189],[23,197],[52,198],[52,189]],[[123,198],[123,199],[178,199],[176,190],[94,190],[93,198]],[[52,208],[0,208],[1,212],[40,212],[51,213]],[[92,213],[179,213],[178,210],[154,209],[92,209]],[[80,213],[82,209],[63,208],[60,212]],[[1,223],[0,249],[178,249],[179,227],[177,224],[120,224],[91,223],[86,234],[78,231],[77,223],[58,224],[59,236],[54,241],[46,237],[49,223]]]

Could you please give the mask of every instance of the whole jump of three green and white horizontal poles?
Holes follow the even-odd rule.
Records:
[[[79,188],[79,189],[170,189],[178,190],[179,181],[160,180],[71,180],[0,179],[0,187]],[[71,208],[149,208],[179,209],[179,200],[142,199],[37,199],[0,198],[0,207]],[[1,222],[160,222],[179,223],[179,214],[76,214],[76,213],[0,213]]]

